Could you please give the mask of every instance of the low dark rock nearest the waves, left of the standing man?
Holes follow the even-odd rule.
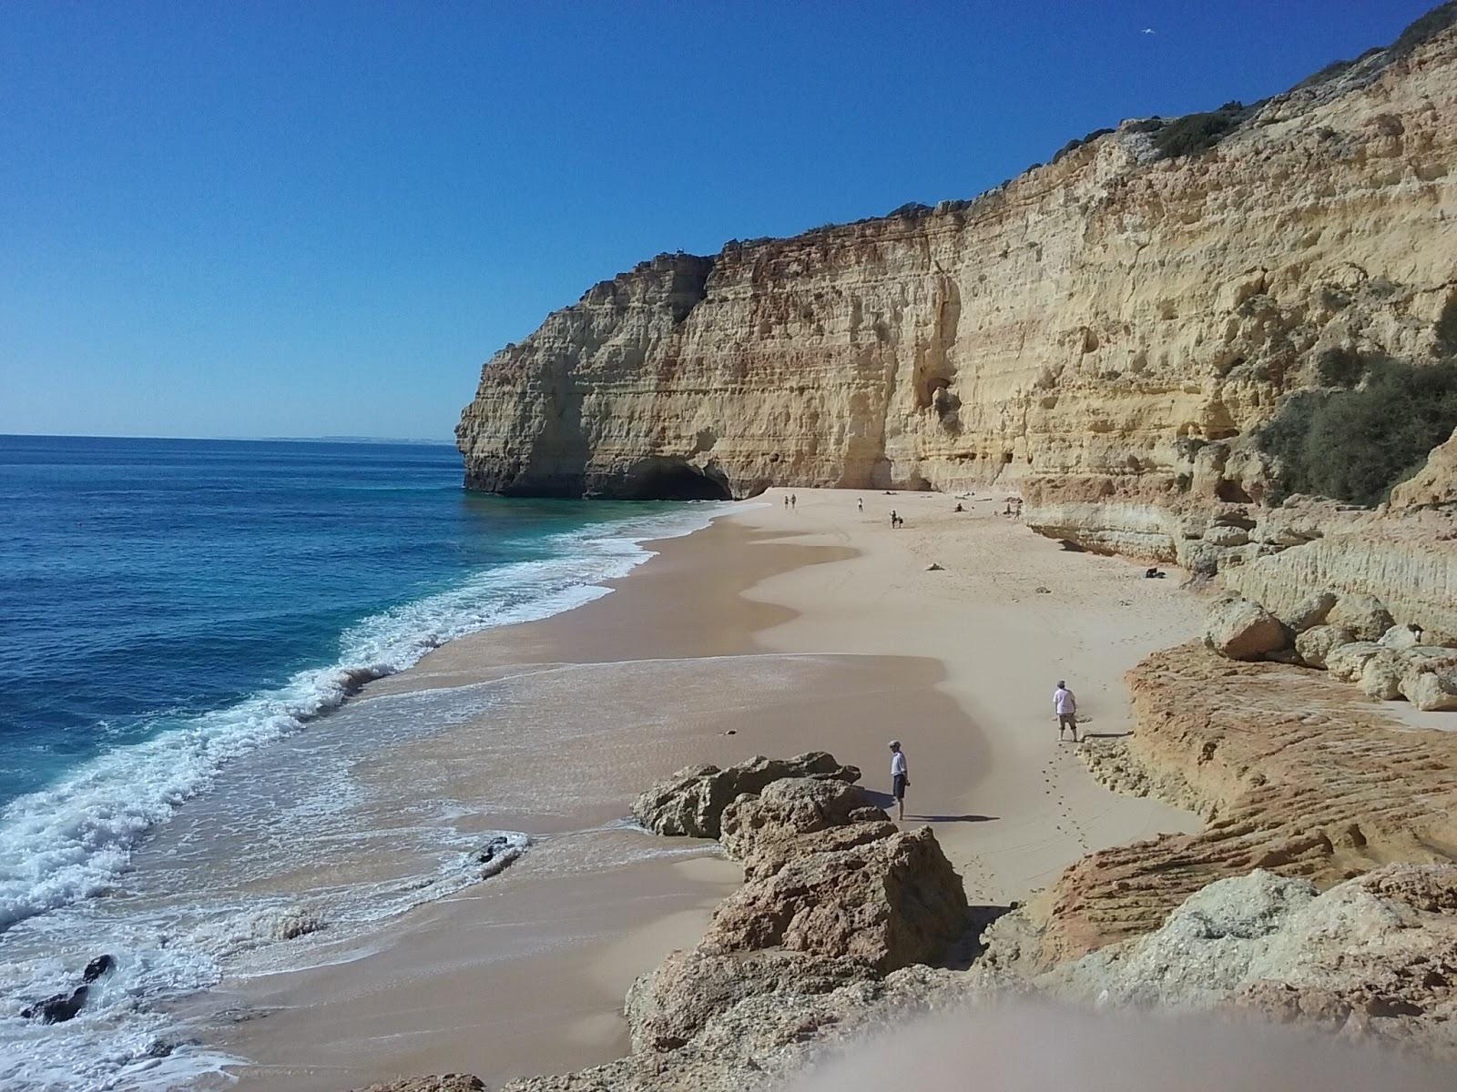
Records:
[[[860,770],[842,766],[826,751],[807,751],[793,759],[758,754],[727,769],[689,766],[640,795],[632,814],[654,834],[715,839],[724,808],[737,796],[763,792],[785,778],[852,783],[860,780]]]

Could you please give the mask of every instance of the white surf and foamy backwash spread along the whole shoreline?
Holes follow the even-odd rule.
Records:
[[[423,874],[312,890],[305,903],[261,891],[223,901],[198,891],[195,898],[157,907],[138,903],[125,890],[136,882],[124,877],[147,833],[207,792],[227,763],[296,734],[364,681],[404,670],[456,636],[549,617],[608,594],[603,581],[653,556],[640,543],[691,533],[726,510],[695,504],[557,536],[549,540],[557,558],[494,568],[385,610],[341,635],[338,660],[329,667],[300,671],[227,709],[163,727],[146,743],[118,747],[50,789],[13,801],[0,812],[0,1088],[224,1086],[224,1067],[239,1060],[178,1044],[182,1029],[165,1003],[214,986],[224,971],[246,977],[342,958],[350,936],[366,936],[382,920],[481,882],[482,868],[471,858],[481,831],[462,833],[449,823],[431,828],[427,860],[434,863]],[[459,699],[446,702],[450,708],[417,700],[428,712],[395,711],[388,731],[408,737],[478,712],[478,703]],[[259,753],[255,761],[267,757]],[[272,812],[297,820],[290,828],[313,833],[297,847],[302,853],[328,837],[328,820],[350,805],[339,795],[344,783],[329,786],[315,786],[313,795],[281,802]],[[214,799],[236,792],[229,786]],[[525,836],[503,833],[513,847],[523,846]],[[189,827],[182,830],[184,849],[188,836]],[[159,875],[152,885],[168,882]],[[121,897],[96,898],[114,891]],[[291,922],[313,913],[323,926],[316,935],[283,939]],[[80,968],[103,951],[117,957],[117,967],[76,1019],[39,1025],[19,1016],[26,1003],[74,987]],[[162,1059],[149,1056],[159,1040],[176,1048]]]

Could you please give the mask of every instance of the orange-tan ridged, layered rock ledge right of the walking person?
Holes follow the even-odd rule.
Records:
[[[1083,858],[992,926],[992,964],[1040,973],[1154,932],[1198,890],[1257,868],[1323,888],[1457,855],[1457,734],[1406,731],[1329,673],[1198,645],[1155,652],[1128,681],[1134,734],[1083,756],[1110,788],[1206,827]]]

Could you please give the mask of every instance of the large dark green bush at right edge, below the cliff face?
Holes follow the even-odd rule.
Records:
[[[1365,367],[1354,390],[1291,395],[1256,435],[1278,460],[1284,495],[1380,504],[1457,427],[1457,360]]]

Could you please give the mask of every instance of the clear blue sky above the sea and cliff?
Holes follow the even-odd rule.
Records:
[[[643,258],[972,197],[1429,6],[6,0],[0,432],[446,438]]]

